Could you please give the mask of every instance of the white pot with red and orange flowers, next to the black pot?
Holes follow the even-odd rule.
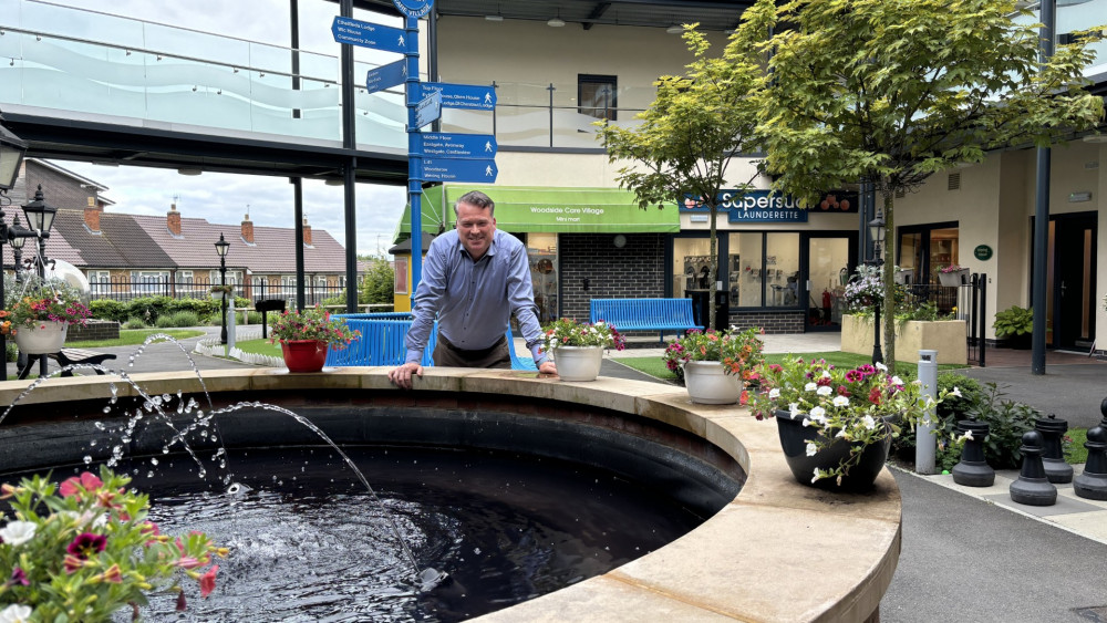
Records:
[[[754,326],[745,331],[689,331],[665,347],[665,367],[684,380],[694,403],[739,402],[742,382],[756,378],[756,367],[764,362],[759,338],[764,333]]]

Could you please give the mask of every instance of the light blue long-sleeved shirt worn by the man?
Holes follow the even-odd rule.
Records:
[[[431,242],[423,263],[423,278],[415,290],[415,320],[404,345],[407,362],[418,362],[434,331],[458,349],[477,351],[495,344],[507,332],[511,314],[523,338],[541,361],[542,331],[538,324],[527,248],[518,238],[496,230],[485,255],[473,261],[457,230]]]

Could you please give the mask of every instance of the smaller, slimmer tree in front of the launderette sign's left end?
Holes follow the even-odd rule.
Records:
[[[642,125],[621,128],[598,122],[610,162],[633,160],[619,169],[620,186],[631,188],[639,207],[683,201],[702,201],[711,210],[711,283],[718,274],[715,219],[720,191],[726,189],[731,159],[739,152],[754,150],[757,141],[757,103],[752,96],[763,79],[752,34],[744,24],[731,38],[721,58],[708,56],[711,44],[695,30],[684,27],[684,41],[694,60],[685,75],[662,76],[654,86],[658,96],[638,115]],[[753,178],[734,184],[739,193]],[[707,325],[715,324],[714,297],[708,305]]]

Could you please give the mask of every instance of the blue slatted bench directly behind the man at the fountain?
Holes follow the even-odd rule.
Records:
[[[346,326],[361,332],[361,336],[354,340],[344,349],[331,349],[327,353],[328,366],[353,366],[353,365],[400,365],[404,363],[407,355],[407,346],[404,338],[411,329],[412,320],[410,313],[355,313],[355,314],[333,314],[332,318],[345,320]],[[434,347],[438,343],[438,325],[435,323],[431,331],[431,340],[423,351],[423,359],[420,364],[432,366],[431,360]],[[511,354],[513,370],[537,371],[535,360],[530,357],[519,357],[515,354],[515,340],[511,338],[511,330],[507,331],[507,346]]]

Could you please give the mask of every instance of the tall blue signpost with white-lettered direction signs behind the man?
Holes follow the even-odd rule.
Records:
[[[334,41],[404,55],[402,61],[370,70],[370,93],[406,85],[407,194],[412,212],[412,302],[423,276],[423,183],[496,181],[496,137],[486,134],[420,132],[442,115],[442,108],[495,111],[496,89],[475,84],[418,81],[418,20],[434,0],[392,0],[404,17],[403,30],[338,17],[331,24]]]

